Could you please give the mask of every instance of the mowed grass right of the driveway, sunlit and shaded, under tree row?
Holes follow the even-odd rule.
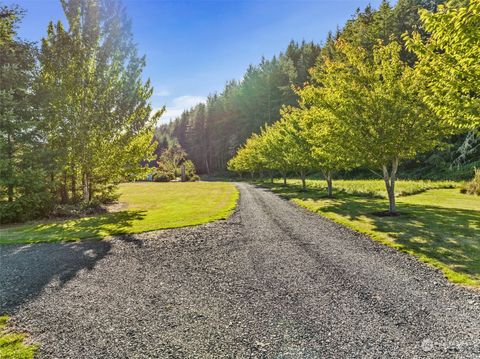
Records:
[[[337,189],[332,199],[326,197],[323,189],[301,192],[296,184],[286,188],[278,184],[264,185],[310,211],[418,257],[441,269],[452,282],[480,286],[479,196],[431,183],[434,189],[397,198],[400,216],[379,217],[374,213],[388,209],[385,194],[355,195],[338,189],[345,183],[344,188],[356,188],[359,181],[348,182],[334,181]],[[411,181],[408,182],[411,186]],[[368,187],[368,182],[361,183]],[[400,182],[400,191],[404,183]],[[422,186],[420,183],[419,187]],[[377,183],[372,181],[371,191],[376,192],[376,188]]]

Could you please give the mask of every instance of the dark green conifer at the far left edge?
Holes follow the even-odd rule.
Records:
[[[0,222],[40,216],[50,205],[34,117],[35,48],[17,38],[23,11],[0,8]],[[7,203],[4,203],[6,200]]]

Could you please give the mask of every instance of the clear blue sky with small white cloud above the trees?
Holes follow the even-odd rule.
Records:
[[[63,20],[59,0],[17,0],[27,10],[19,29],[39,41],[50,20]],[[225,82],[240,79],[249,64],[283,51],[290,40],[321,42],[368,3],[380,0],[123,0],[133,21],[145,78],[168,122]]]

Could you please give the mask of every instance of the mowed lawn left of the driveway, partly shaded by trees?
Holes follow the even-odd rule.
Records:
[[[66,221],[47,221],[0,229],[0,244],[76,241],[110,235],[193,226],[227,218],[238,190],[224,182],[125,183],[122,211]]]

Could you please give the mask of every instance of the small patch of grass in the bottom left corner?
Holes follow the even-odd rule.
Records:
[[[35,355],[36,345],[25,343],[26,335],[7,328],[7,316],[0,316],[0,358],[30,359]]]

